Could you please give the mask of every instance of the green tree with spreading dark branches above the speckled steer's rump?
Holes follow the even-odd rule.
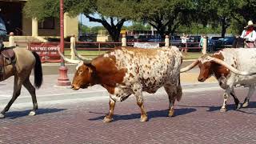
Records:
[[[190,24],[187,14],[194,9],[189,0],[142,0],[134,11],[138,21],[148,22],[162,36],[174,33],[178,25]]]

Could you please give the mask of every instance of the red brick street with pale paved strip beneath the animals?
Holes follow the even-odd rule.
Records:
[[[186,77],[186,75],[183,75]],[[103,123],[108,96],[101,86],[70,90],[54,86],[57,75],[44,76],[38,95],[38,111],[28,116],[32,102],[22,94],[0,119],[0,143],[255,143],[256,98],[248,108],[219,112],[223,90],[216,82],[182,83],[183,96],[175,116],[168,118],[169,101],[163,89],[145,95],[149,121],[139,122],[140,110],[133,96],[118,102],[114,122]],[[72,78],[72,75],[70,75]],[[194,78],[196,80],[196,78]],[[12,78],[0,84],[0,110],[12,94]],[[242,102],[247,89],[235,90]],[[8,96],[9,95],[9,96]]]

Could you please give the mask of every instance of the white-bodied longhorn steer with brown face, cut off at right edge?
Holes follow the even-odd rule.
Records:
[[[199,82],[205,82],[211,75],[218,80],[219,86],[225,90],[223,94],[224,102],[221,112],[226,111],[226,102],[230,94],[234,98],[236,109],[239,109],[240,103],[234,94],[235,86],[249,87],[249,93],[243,102],[242,107],[248,106],[250,96],[254,93],[256,83],[256,49],[224,49],[214,53],[212,56],[203,55],[195,62],[183,68],[185,72],[199,66]],[[247,71],[247,72],[245,72]]]

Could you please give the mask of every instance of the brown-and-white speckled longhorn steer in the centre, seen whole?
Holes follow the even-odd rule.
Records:
[[[80,55],[77,56],[83,59]],[[69,61],[68,58],[65,60]],[[99,84],[108,90],[110,111],[103,122],[112,121],[117,101],[122,102],[130,94],[134,94],[141,108],[141,122],[146,122],[142,91],[152,94],[164,86],[170,101],[169,116],[174,115],[174,102],[182,97],[179,72],[181,64],[182,54],[175,46],[159,49],[118,47],[91,62],[87,61],[82,65],[80,62],[81,66],[74,74],[72,88],[78,90]]]

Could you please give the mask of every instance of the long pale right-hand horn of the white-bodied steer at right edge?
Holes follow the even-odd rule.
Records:
[[[213,57],[208,56],[207,59],[209,61],[216,62],[216,63],[218,63],[218,64],[220,64],[222,66],[225,66],[227,69],[232,71],[234,74],[239,74],[239,75],[254,75],[254,74],[256,74],[256,72],[249,73],[249,72],[246,72],[246,71],[237,70],[233,66],[230,66],[229,64],[227,64],[226,62],[224,62],[224,61],[222,61],[221,59],[218,59],[218,58],[213,58]]]

